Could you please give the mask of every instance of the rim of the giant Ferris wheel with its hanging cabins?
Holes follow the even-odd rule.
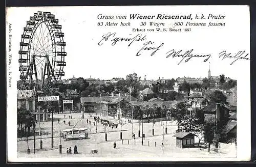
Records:
[[[55,30],[53,30],[53,25],[60,26],[60,27],[61,27],[61,25],[58,24],[58,22],[54,23],[54,22],[51,22],[51,21],[49,21],[48,19],[45,19],[45,18],[46,17],[41,17],[41,19],[35,20],[34,25],[28,24],[28,21],[27,21],[27,24],[24,27],[24,31],[23,31],[23,34],[22,34],[22,39],[20,41],[20,47],[19,47],[19,61],[20,61],[19,62],[19,68],[23,67],[24,65],[27,66],[27,70],[20,70],[20,77],[22,77],[20,79],[25,81],[25,82],[28,81],[29,72],[31,71],[30,64],[31,64],[32,56],[33,56],[32,55],[33,53],[31,52],[31,46],[33,46],[32,41],[33,41],[33,39],[35,39],[35,34],[36,34],[36,31],[38,30],[38,27],[40,25],[42,26],[42,24],[44,24],[46,26],[45,31],[47,29],[47,31],[49,32],[48,34],[50,34],[50,40],[51,40],[51,50],[52,51],[50,53],[51,53],[52,59],[51,59],[50,66],[52,67],[51,70],[53,70],[53,71],[52,71],[52,75],[48,74],[49,76],[51,76],[50,79],[53,80],[53,81],[61,80],[62,74],[61,75],[56,75],[55,70],[58,70],[59,72],[63,73],[63,68],[64,68],[64,66],[66,66],[65,55],[58,55],[59,60],[56,59],[58,52],[66,53],[65,52],[66,42],[64,42],[64,40],[63,40],[63,35],[62,36],[61,35],[55,36],[55,33],[58,33],[58,34],[64,34],[64,33],[62,33],[61,28],[59,28],[59,29],[55,28]],[[32,30],[32,31],[30,31],[31,33],[29,33],[29,31],[27,31],[27,30],[30,30],[30,29]],[[27,48],[26,48],[24,45],[22,45],[22,43],[23,44],[25,43],[28,36],[29,36],[29,41],[28,41]],[[37,37],[37,40],[38,40],[38,37]],[[65,43],[65,45],[60,45],[60,46],[58,46],[58,49],[57,49],[56,42],[59,42],[59,43],[62,42],[62,43]],[[49,45],[48,45],[48,47],[49,47]],[[34,46],[33,46],[33,49],[34,49]],[[24,52],[26,52],[25,55],[23,54]],[[47,55],[44,55],[43,57],[46,57],[46,56]],[[24,63],[25,61],[26,61],[26,63]],[[58,66],[58,62],[60,62],[59,66]]]

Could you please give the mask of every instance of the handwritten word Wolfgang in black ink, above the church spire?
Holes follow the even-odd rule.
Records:
[[[178,65],[185,59],[185,63],[188,62],[190,59],[192,58],[205,58],[203,62],[207,62],[209,60],[209,58],[211,57],[211,54],[192,54],[194,49],[190,49],[187,50],[185,52],[182,52],[183,50],[179,50],[179,51],[175,51],[174,49],[168,51],[166,54],[166,58],[169,58],[170,56],[172,56],[173,58],[182,58],[181,61],[178,63]]]

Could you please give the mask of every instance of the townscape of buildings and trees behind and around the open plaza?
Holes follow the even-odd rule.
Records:
[[[91,131],[87,132],[86,138],[92,135],[92,131],[96,134],[99,132],[97,121],[111,129],[114,128],[114,131],[117,130],[118,125],[121,128],[123,124],[131,122],[133,126],[138,124],[138,137],[142,136],[143,145],[144,132],[141,125],[141,120],[143,120],[144,128],[153,125],[153,128],[147,127],[147,133],[149,133],[147,135],[175,134],[172,137],[176,137],[174,145],[177,148],[197,146],[210,152],[210,150],[220,150],[221,143],[236,144],[237,81],[225,77],[224,74],[211,76],[210,69],[208,76],[204,78],[165,79],[159,77],[155,80],[147,80],[146,76],[141,79],[136,73],[129,74],[126,78],[116,77],[110,80],[73,76],[63,79],[57,89],[50,90],[48,94],[37,91],[35,88],[19,90],[21,88],[19,81],[17,87],[17,131],[20,138],[26,138],[27,135],[27,140],[29,136],[40,135],[41,137],[42,135],[48,136],[48,133],[51,134],[51,131],[43,132],[41,129],[39,129],[41,133],[37,132],[38,127],[31,129],[33,125],[36,127],[34,121],[36,123],[38,120],[51,122],[57,119],[59,124],[60,117],[64,115],[61,119],[65,121],[66,114],[72,121],[72,115],[76,115],[78,117],[76,120],[79,122],[79,118],[87,118],[86,113],[88,113],[87,125],[92,127],[85,126]],[[38,96],[58,96],[59,99],[41,102],[38,101]],[[40,110],[40,118],[38,110]],[[53,118],[53,113],[56,118]],[[90,120],[92,115],[94,120]],[[98,120],[97,116],[100,116]],[[159,123],[165,127],[164,132],[161,129],[157,130]],[[167,123],[174,123],[175,126],[167,130],[170,126]],[[82,127],[84,128],[84,125]],[[131,125],[127,128],[131,128]],[[63,129],[59,128],[59,131],[61,136],[67,139],[65,138],[67,134],[65,136],[61,132]],[[135,135],[134,131],[132,129],[133,135]],[[107,142],[106,129],[104,132],[105,142]],[[121,133],[125,131],[121,130]],[[132,137],[135,140],[135,136]],[[121,134],[115,140],[118,139],[123,142]]]

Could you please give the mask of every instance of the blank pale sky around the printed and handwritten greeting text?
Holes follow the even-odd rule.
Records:
[[[186,6],[189,8],[189,6]],[[86,9],[86,10],[85,10]],[[30,16],[37,11],[48,11],[55,14],[55,18],[59,19],[59,24],[62,25],[62,32],[65,34],[64,41],[67,43],[65,51],[67,52],[66,63],[64,68],[65,76],[62,79],[70,77],[84,77],[84,78],[100,78],[111,79],[113,77],[125,78],[127,74],[137,73],[138,76],[146,79],[160,78],[177,78],[177,77],[207,77],[208,66],[210,62],[211,75],[218,76],[224,74],[226,77],[237,79],[238,74],[243,74],[241,69],[249,68],[249,61],[237,61],[233,65],[230,59],[221,60],[219,52],[226,50],[230,53],[236,53],[238,50],[249,51],[249,33],[237,33],[237,19],[243,18],[243,14],[236,12],[237,8],[230,8],[229,11],[222,10],[221,7],[212,8],[214,14],[223,14],[225,11],[226,22],[225,27],[196,27],[191,26],[191,32],[133,32],[133,29],[155,29],[150,26],[150,21],[164,22],[166,29],[168,27],[175,27],[172,20],[112,20],[112,19],[98,19],[99,14],[109,15],[125,15],[127,14],[127,7],[115,8],[87,8],[87,7],[61,7],[61,8],[12,8],[7,13],[7,18],[12,24],[12,51],[13,51],[13,71],[16,76],[19,76],[18,71],[18,50],[20,35],[23,34],[23,27]],[[139,9],[137,7],[131,8],[133,14],[141,15],[157,15],[159,11],[153,9]],[[162,7],[161,13],[166,15],[184,14],[188,15],[200,11],[207,15],[209,10],[205,8],[189,8],[188,10],[180,11],[179,7],[173,7],[169,10],[167,7]],[[151,11],[152,10],[152,11]],[[149,12],[150,11],[150,12]],[[99,22],[130,22],[131,26],[98,26]],[[146,22],[146,26],[140,26],[141,22]],[[211,20],[210,20],[211,21]],[[219,21],[219,20],[218,20]],[[184,24],[186,20],[183,21]],[[200,22],[200,21],[198,21]],[[202,22],[202,21],[201,21]],[[242,19],[239,29],[248,30],[246,25],[248,20]],[[232,28],[233,27],[233,28]],[[180,27],[175,27],[178,29]],[[230,29],[231,28],[231,29]],[[102,36],[108,33],[116,33],[115,37],[128,38],[134,37],[141,33],[146,35],[146,40],[133,42],[131,46],[129,42],[118,41],[114,46],[110,40],[103,41],[102,45],[98,43],[102,40]],[[114,39],[110,37],[110,39]],[[144,42],[154,42],[152,47],[157,47],[164,43],[154,55],[151,55],[152,50],[142,50],[139,56],[136,53],[143,47]],[[205,58],[192,58],[188,62],[181,58],[166,58],[166,53],[174,49],[175,51],[193,50],[193,53],[211,54],[208,61],[203,62]],[[16,61],[16,62],[15,62]],[[240,68],[243,67],[243,68]]]

